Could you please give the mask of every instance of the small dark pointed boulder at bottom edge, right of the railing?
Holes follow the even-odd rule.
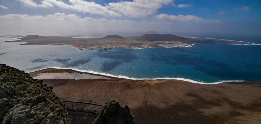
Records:
[[[124,108],[115,100],[107,102],[92,124],[134,124],[128,106]]]

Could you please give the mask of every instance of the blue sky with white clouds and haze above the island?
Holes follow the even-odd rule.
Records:
[[[260,0],[0,0],[1,34],[260,35]]]

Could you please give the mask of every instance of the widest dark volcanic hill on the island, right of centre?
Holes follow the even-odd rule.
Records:
[[[179,41],[187,39],[189,38],[179,37],[172,34],[144,34],[141,37],[137,38],[137,40],[142,41]]]

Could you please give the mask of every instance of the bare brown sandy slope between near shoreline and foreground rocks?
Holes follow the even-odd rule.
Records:
[[[44,80],[62,100],[130,107],[137,124],[259,124],[261,82],[194,84],[178,80]]]

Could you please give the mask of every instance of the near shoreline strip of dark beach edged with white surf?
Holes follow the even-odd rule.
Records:
[[[94,76],[103,76],[107,78],[111,78],[113,80],[132,80],[132,81],[179,81],[179,82],[188,82],[188,83],[195,83],[195,84],[220,84],[220,83],[251,83],[252,81],[245,81],[245,80],[221,80],[221,81],[216,81],[212,83],[205,83],[205,82],[198,82],[195,80],[191,79],[184,79],[184,78],[143,78],[143,79],[135,79],[135,78],[130,78],[127,76],[113,76],[111,74],[106,74],[106,73],[100,73],[100,72],[93,72],[93,71],[85,71],[85,70],[79,70],[79,69],[73,69],[73,68],[59,68],[59,67],[53,67],[53,68],[44,68],[38,71],[34,72],[29,72],[30,76],[36,76],[39,73],[54,73],[54,72],[78,72],[78,73],[85,73],[89,75],[94,75]],[[259,82],[259,81],[253,81],[253,82]]]

